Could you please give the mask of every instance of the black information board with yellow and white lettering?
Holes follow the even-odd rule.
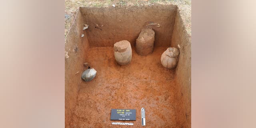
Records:
[[[110,120],[136,120],[136,110],[111,109]]]

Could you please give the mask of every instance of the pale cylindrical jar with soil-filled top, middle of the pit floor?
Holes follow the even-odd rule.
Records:
[[[129,64],[132,60],[132,47],[130,42],[122,40],[114,44],[114,56],[120,65]]]

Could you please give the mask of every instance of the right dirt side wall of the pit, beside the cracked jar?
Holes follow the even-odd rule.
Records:
[[[191,128],[191,36],[185,30],[179,10],[175,18],[171,46],[180,50],[175,76],[176,85],[179,86],[176,94],[176,123],[181,128]]]

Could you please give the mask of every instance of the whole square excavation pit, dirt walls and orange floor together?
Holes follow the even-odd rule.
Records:
[[[84,24],[89,25],[86,30]],[[136,38],[146,27],[155,32],[154,50],[140,56],[135,51]],[[122,66],[114,57],[114,43],[121,40],[132,46],[132,60]],[[160,61],[170,46],[180,50],[173,70]],[[66,128],[131,127],[111,122],[142,127],[142,107],[147,127],[191,127],[191,36],[177,6],[80,7],[65,50]],[[85,62],[97,70],[90,82],[81,79]],[[110,120],[111,109],[118,108],[136,109],[136,121]]]

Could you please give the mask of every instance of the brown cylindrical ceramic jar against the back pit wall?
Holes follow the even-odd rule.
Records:
[[[151,28],[141,30],[139,37],[136,39],[136,52],[139,55],[146,56],[154,50],[155,32]]]

